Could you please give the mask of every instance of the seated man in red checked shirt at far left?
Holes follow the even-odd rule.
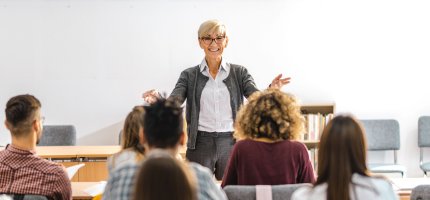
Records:
[[[36,155],[43,127],[40,108],[40,101],[28,94],[12,97],[6,104],[5,125],[12,143],[0,151],[0,194],[72,199],[65,168]]]

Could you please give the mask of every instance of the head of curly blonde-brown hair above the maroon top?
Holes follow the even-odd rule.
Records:
[[[254,92],[236,118],[237,139],[296,139],[303,131],[303,116],[296,99],[280,90]]]

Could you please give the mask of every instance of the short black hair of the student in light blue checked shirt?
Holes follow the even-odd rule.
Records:
[[[174,98],[160,98],[145,106],[144,134],[149,146],[174,147],[183,132],[182,108]]]

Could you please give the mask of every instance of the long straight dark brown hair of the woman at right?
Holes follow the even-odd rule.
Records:
[[[354,173],[368,176],[364,131],[353,117],[339,115],[321,135],[316,184],[328,184],[327,199],[349,199],[349,183]]]

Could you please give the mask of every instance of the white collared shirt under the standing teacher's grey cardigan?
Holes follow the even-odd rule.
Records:
[[[230,105],[230,92],[223,82],[230,73],[230,64],[223,58],[215,79],[209,73],[206,59],[200,64],[200,71],[209,77],[200,98],[199,131],[233,131],[233,112]]]

